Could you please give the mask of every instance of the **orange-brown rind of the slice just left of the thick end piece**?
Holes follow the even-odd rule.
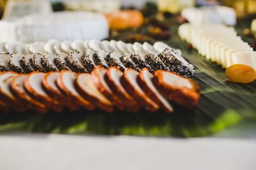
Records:
[[[141,89],[143,89],[143,91],[145,92],[145,94],[147,94],[147,96],[152,99],[157,105],[159,105],[161,107],[161,109],[163,109],[166,113],[170,113],[172,112],[172,110],[166,108],[166,106],[162,103],[162,101],[157,97],[157,95],[150,89],[150,87],[148,87],[145,78],[143,76],[143,71],[148,71],[148,68],[144,68],[140,71],[140,74],[138,76],[138,84],[140,85]],[[151,73],[150,73],[151,74]]]

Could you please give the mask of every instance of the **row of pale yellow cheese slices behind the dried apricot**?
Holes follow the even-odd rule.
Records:
[[[179,35],[180,38],[191,43],[198,50],[198,53],[223,68],[233,64],[253,65],[249,62],[243,62],[245,58],[246,60],[252,58],[252,54],[250,54],[251,57],[242,57],[243,59],[241,60],[240,58],[232,57],[234,53],[239,52],[243,52],[244,55],[248,56],[248,53],[253,51],[248,43],[244,42],[240,36],[237,36],[237,32],[233,27],[221,24],[182,24],[179,27]],[[250,61],[252,62],[252,60]]]

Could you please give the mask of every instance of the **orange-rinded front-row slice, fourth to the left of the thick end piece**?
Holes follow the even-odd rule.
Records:
[[[110,89],[108,83],[106,83],[104,76],[107,73],[107,69],[102,66],[97,66],[91,73],[92,81],[97,89],[108,98],[111,103],[115,103],[115,107],[118,110],[124,110],[124,103],[120,99],[118,99],[115,94],[113,94],[112,90]]]

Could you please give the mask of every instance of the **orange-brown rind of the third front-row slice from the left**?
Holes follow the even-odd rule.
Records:
[[[63,111],[63,107],[60,105],[60,103],[58,101],[51,99],[51,97],[49,97],[49,96],[42,96],[42,95],[38,94],[38,92],[36,92],[36,90],[31,87],[31,85],[29,83],[29,78],[33,74],[38,74],[38,73],[40,73],[40,72],[35,71],[33,73],[28,74],[28,76],[26,77],[25,89],[29,93],[29,96],[31,96],[33,99],[35,99],[39,103],[45,104],[48,108],[51,108],[52,110],[54,110],[56,112]]]

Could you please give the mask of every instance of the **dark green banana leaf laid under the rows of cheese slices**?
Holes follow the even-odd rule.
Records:
[[[200,100],[195,110],[173,104],[173,113],[156,111],[149,113],[140,110],[138,113],[115,110],[106,113],[96,110],[51,111],[38,114],[34,111],[0,114],[0,132],[29,131],[64,134],[102,134],[134,136],[205,136],[220,132],[226,127],[239,122],[256,121],[256,82],[234,83],[228,80],[225,70],[191,48],[178,35],[179,24],[176,16],[164,18],[170,25],[170,40],[164,41],[172,48],[180,49],[182,57],[195,66],[196,81],[200,87]],[[239,20],[236,31],[243,41],[252,42],[253,38],[243,35],[248,27],[246,20]],[[153,45],[158,40],[148,38],[148,25],[139,29],[113,31],[109,36],[116,41],[134,43],[147,42]],[[140,38],[138,38],[140,37]],[[142,38],[141,38],[142,37]]]

